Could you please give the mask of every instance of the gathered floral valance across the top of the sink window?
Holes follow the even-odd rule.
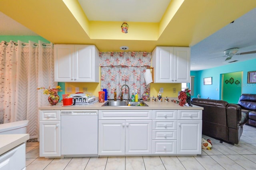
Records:
[[[151,52],[100,52],[100,66],[150,66]]]

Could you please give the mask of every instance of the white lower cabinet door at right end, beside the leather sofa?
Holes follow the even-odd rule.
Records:
[[[178,120],[177,131],[177,154],[201,154],[201,120]]]

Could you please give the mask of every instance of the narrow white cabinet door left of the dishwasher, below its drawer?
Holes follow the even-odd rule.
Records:
[[[60,121],[40,121],[40,156],[60,156]]]

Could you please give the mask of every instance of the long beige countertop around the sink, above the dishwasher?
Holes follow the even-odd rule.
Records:
[[[106,102],[106,101],[105,101]],[[148,106],[102,106],[104,103],[95,103],[92,105],[75,105],[75,106],[62,106],[62,103],[58,103],[56,106],[43,106],[38,107],[39,110],[147,110],[147,109],[174,109],[174,110],[203,110],[203,107],[192,105],[192,107],[180,106],[174,102],[145,102]]]

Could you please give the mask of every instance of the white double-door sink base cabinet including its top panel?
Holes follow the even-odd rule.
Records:
[[[119,112],[123,113],[123,118],[118,114]],[[145,114],[145,119],[149,120],[136,120],[138,119],[136,113],[138,113],[139,117],[141,116],[140,111],[127,110],[127,112],[134,113],[134,117],[127,117],[125,112],[124,110],[99,110],[99,117],[104,119],[98,121],[99,155],[152,153],[152,111],[141,111],[142,113],[148,112]],[[113,116],[117,114],[118,119],[124,120],[106,120],[106,115],[109,115],[108,113],[111,113]],[[112,119],[116,119],[115,116]]]

